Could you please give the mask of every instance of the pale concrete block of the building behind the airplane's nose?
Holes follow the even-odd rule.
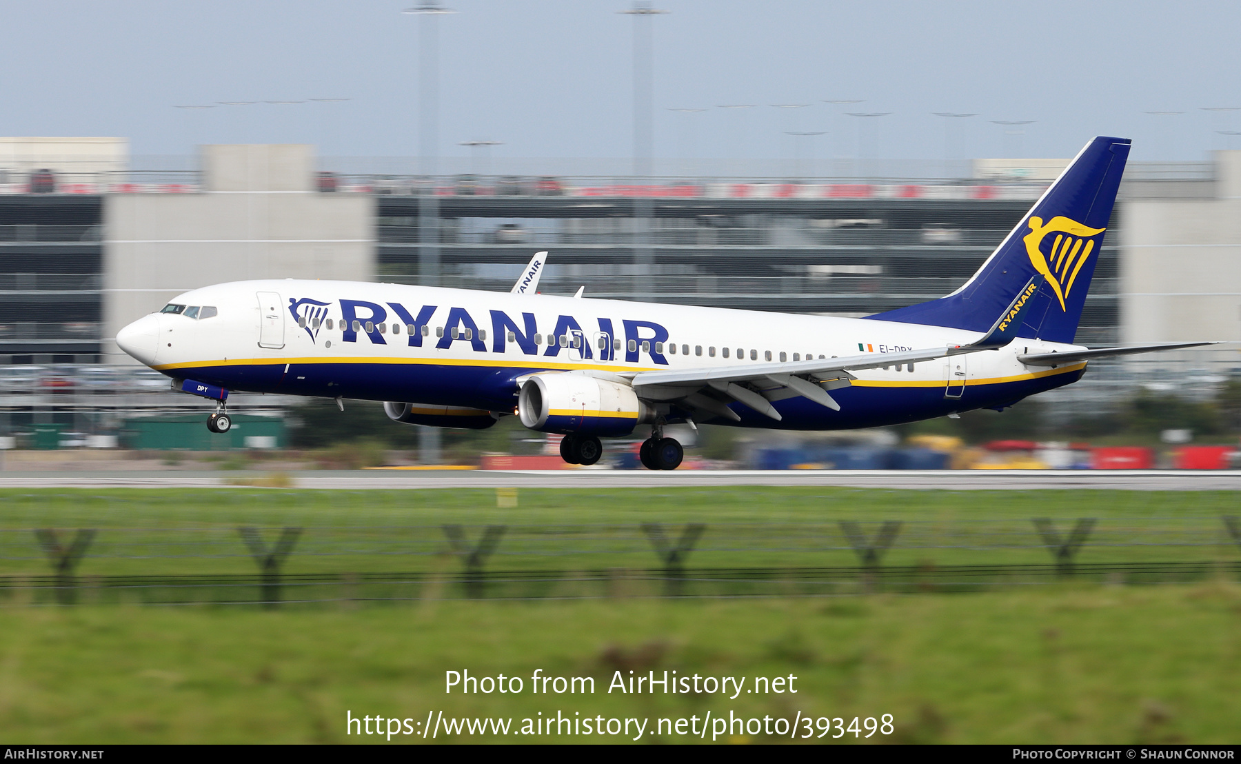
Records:
[[[374,197],[316,192],[314,161],[308,145],[204,146],[200,192],[105,196],[105,362],[130,362],[117,331],[187,289],[374,278]]]

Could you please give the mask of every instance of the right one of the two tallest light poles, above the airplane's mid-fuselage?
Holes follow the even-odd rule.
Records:
[[[652,42],[653,16],[666,14],[652,6],[650,0],[634,0],[633,7],[617,11],[633,16],[633,175],[634,185],[647,179],[650,182],[654,156],[654,124],[652,98],[655,88],[654,43]],[[648,278],[654,253],[650,242],[650,218],[654,207],[645,193],[633,200],[633,298],[654,299],[654,283]]]

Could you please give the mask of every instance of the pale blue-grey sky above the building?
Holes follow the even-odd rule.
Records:
[[[413,0],[0,4],[0,134],[123,135],[135,154],[197,143],[316,143],[416,154]],[[628,156],[630,0],[447,0],[443,155]],[[1137,160],[1241,149],[1241,6],[1226,2],[659,0],[656,156],[1071,156],[1090,136]],[[339,103],[217,102],[349,98]],[[827,99],[864,99],[833,105]],[[798,109],[771,104],[807,103]],[[721,109],[721,104],[756,104]],[[705,112],[673,112],[704,108]],[[890,112],[859,144],[860,118]],[[977,113],[946,129],[934,112]],[[1152,115],[1145,112],[1183,112]],[[992,120],[1036,120],[1018,139]],[[870,128],[864,128],[870,129]],[[787,131],[824,133],[794,139]],[[872,144],[866,144],[872,140]]]

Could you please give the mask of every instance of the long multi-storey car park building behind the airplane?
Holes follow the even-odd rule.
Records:
[[[124,143],[0,139],[0,429],[48,417],[107,429],[107,415],[81,420],[87,409],[197,411],[112,337],[180,291],[228,280],[508,291],[546,249],[545,293],[890,310],[959,286],[1064,164],[979,160],[953,180],[426,177],[336,172],[307,145],[212,145],[195,171],[159,174],[128,167]],[[1241,151],[1131,162],[1077,341],[1241,340],[1239,221]],[[1133,383],[1175,365],[1209,386],[1241,360],[1185,351],[1100,377]]]

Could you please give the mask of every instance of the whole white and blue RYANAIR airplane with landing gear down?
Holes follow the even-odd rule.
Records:
[[[865,319],[535,293],[262,280],[187,291],[117,335],[127,353],[211,398],[230,391],[383,401],[396,422],[482,429],[516,414],[562,433],[566,461],[649,427],[642,463],[671,470],[673,423],[824,430],[1003,409],[1081,378],[1091,358],[1206,345],[1073,345],[1129,155],[1096,138],[964,285]]]

